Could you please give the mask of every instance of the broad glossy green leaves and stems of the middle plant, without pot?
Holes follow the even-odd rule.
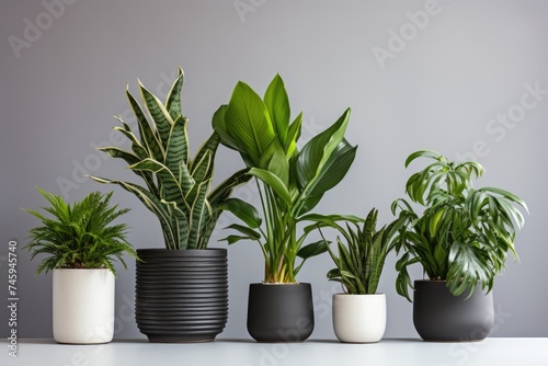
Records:
[[[249,175],[255,179],[262,210],[260,215],[254,206],[238,199],[225,202],[221,207],[246,224],[231,225],[239,233],[226,240],[229,244],[239,240],[260,244],[265,283],[296,283],[305,261],[327,250],[322,240],[304,245],[308,231],[297,235],[297,225],[317,218],[310,211],[354,161],[356,147],[344,139],[349,121],[350,108],[299,149],[302,113],[290,122],[289,100],[279,76],[272,80],[264,99],[238,82],[228,105],[215,113],[214,127],[221,144],[240,152]]]

